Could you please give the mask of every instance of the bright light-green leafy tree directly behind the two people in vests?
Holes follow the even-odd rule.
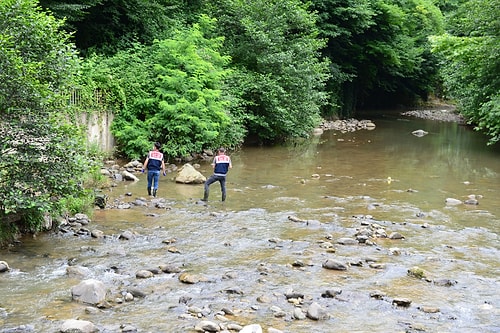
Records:
[[[104,87],[108,99],[118,96],[112,131],[123,154],[142,157],[154,141],[169,157],[241,144],[245,131],[223,93],[230,58],[218,51],[222,38],[206,37],[214,24],[201,16],[151,46],[89,58],[85,77]]]

